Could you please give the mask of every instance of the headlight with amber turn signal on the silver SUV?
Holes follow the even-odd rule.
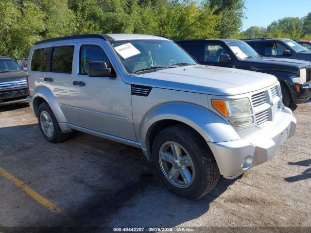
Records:
[[[223,116],[235,118],[229,121],[234,126],[249,125],[254,122],[252,116],[252,107],[248,98],[240,100],[212,100],[213,107]]]

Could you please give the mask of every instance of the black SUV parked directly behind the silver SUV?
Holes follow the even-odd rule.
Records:
[[[259,55],[241,40],[178,40],[200,64],[258,71],[276,76],[281,84],[283,103],[301,103],[311,96],[311,62]],[[307,83],[310,82],[310,83]]]

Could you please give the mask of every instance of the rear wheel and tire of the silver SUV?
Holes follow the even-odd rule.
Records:
[[[47,103],[41,103],[38,108],[38,122],[42,135],[49,142],[60,143],[68,139],[69,133],[63,133]]]

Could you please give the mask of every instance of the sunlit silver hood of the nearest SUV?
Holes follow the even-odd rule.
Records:
[[[277,82],[270,74],[204,65],[162,69],[132,76],[129,80],[131,84],[211,95],[239,95]]]

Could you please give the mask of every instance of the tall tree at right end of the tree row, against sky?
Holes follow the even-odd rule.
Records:
[[[242,28],[242,20],[245,18],[244,0],[207,0],[210,7],[217,7],[215,14],[222,14],[221,25],[218,30],[222,38],[231,38],[236,36]]]

